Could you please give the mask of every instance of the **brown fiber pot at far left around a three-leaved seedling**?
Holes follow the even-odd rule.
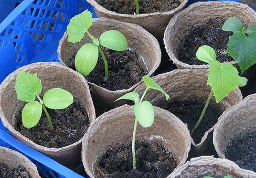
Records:
[[[50,88],[60,87],[69,91],[73,96],[76,96],[86,109],[88,118],[92,123],[95,120],[95,109],[87,81],[81,74],[60,63],[38,62],[25,65],[9,74],[0,85],[0,116],[4,126],[9,129],[14,137],[65,165],[70,165],[72,161],[75,162],[81,159],[82,139],[66,147],[47,148],[29,140],[14,129],[14,112],[17,108],[22,109],[22,106],[24,106],[24,102],[17,99],[14,89],[16,75],[22,71],[37,73],[39,79],[42,81],[43,93]]]

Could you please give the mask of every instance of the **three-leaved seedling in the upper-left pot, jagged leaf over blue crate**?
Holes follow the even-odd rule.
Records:
[[[79,42],[82,40],[84,34],[87,34],[92,40],[92,43],[86,43],[78,50],[76,58],[74,59],[74,65],[79,73],[88,76],[95,68],[100,52],[104,62],[105,80],[108,80],[108,61],[106,60],[101,46],[115,51],[125,51],[128,47],[128,43],[125,36],[118,30],[105,31],[100,35],[99,39],[95,38],[88,31],[92,23],[92,14],[88,10],[70,19],[70,23],[67,27],[68,42]]]

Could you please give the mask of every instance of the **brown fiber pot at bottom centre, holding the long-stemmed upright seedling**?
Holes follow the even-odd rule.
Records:
[[[82,141],[82,161],[90,177],[95,177],[93,164],[101,155],[120,143],[132,141],[134,121],[134,107],[123,105],[104,113],[90,126]],[[154,124],[150,128],[142,128],[138,124],[136,130],[136,140],[152,138],[172,150],[177,167],[186,162],[190,150],[189,131],[176,116],[155,107]]]

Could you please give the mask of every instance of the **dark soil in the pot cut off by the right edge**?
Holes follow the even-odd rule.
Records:
[[[225,150],[225,157],[242,169],[256,172],[256,131],[234,137]]]

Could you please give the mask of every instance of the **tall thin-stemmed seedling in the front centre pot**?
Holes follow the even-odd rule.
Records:
[[[153,105],[148,101],[143,101],[148,90],[153,89],[159,92],[162,92],[166,100],[168,101],[169,95],[164,92],[164,90],[153,80],[151,77],[145,75],[143,76],[143,81],[146,84],[146,89],[140,99],[140,96],[136,92],[127,93],[120,98],[116,99],[119,101],[120,99],[129,99],[134,102],[134,115],[135,115],[135,123],[133,128],[133,136],[132,136],[132,158],[133,158],[133,169],[136,169],[136,157],[135,157],[135,136],[137,129],[137,122],[144,128],[151,127],[154,123],[155,119],[155,110]]]

